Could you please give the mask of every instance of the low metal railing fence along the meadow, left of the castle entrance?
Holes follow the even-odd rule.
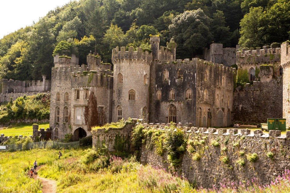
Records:
[[[4,147],[5,146],[5,147]],[[31,150],[31,149],[69,149],[72,147],[79,147],[79,141],[69,142],[69,143],[63,143],[58,141],[38,141],[38,142],[32,142],[28,143],[26,145],[24,144],[7,144],[1,146],[2,148],[0,150],[6,150],[6,151],[16,151],[16,150]]]

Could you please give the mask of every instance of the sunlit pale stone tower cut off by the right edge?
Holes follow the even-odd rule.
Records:
[[[283,118],[290,124],[290,46],[289,42],[281,44],[281,66],[283,67]]]

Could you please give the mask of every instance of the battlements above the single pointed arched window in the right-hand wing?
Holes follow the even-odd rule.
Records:
[[[237,65],[280,62],[280,56],[280,48],[268,49],[268,46],[263,46],[263,49],[256,48],[256,50],[243,48],[242,51],[236,52]]]

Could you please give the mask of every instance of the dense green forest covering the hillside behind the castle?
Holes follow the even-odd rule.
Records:
[[[111,50],[117,46],[150,49],[150,35],[159,35],[160,46],[176,42],[177,59],[201,54],[211,43],[282,43],[290,39],[290,1],[71,1],[0,40],[0,78],[50,79],[56,54],[76,54],[79,63],[86,64],[92,51],[111,62]]]

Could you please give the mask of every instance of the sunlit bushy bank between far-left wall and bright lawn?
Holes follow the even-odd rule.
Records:
[[[20,96],[15,101],[10,99],[0,106],[0,123],[13,121],[41,121],[49,119],[50,94],[41,93],[33,96]]]

